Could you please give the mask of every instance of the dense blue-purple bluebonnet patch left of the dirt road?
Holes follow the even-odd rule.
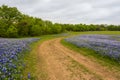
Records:
[[[0,38],[0,80],[22,80],[24,52],[29,51],[30,44],[37,40]]]

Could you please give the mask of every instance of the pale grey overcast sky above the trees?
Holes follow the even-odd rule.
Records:
[[[0,0],[3,4],[58,23],[120,24],[120,0]]]

